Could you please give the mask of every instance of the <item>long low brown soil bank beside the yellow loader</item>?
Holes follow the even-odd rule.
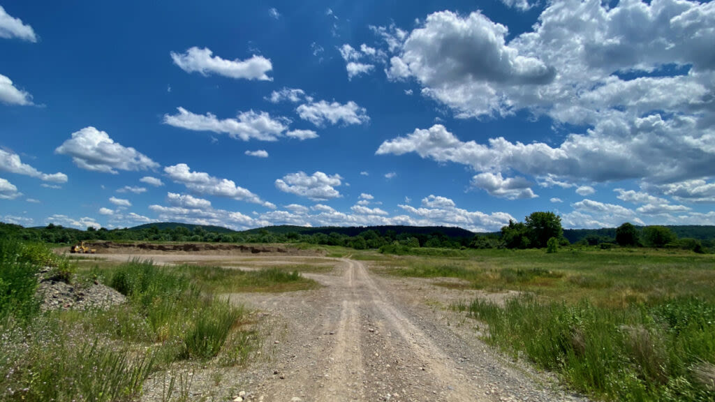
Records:
[[[275,255],[320,255],[315,250],[298,250],[297,248],[280,245],[239,245],[232,243],[152,243],[152,242],[95,242],[87,243],[90,248],[97,249],[97,254],[157,254],[157,253],[191,253],[191,254],[275,254]]]

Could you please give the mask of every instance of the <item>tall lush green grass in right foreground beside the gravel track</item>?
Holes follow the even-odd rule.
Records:
[[[614,401],[711,401],[715,305],[678,298],[624,310],[540,303],[463,305],[488,324],[488,341],[559,371],[580,391]]]

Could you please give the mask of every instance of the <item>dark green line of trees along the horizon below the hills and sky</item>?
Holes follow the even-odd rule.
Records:
[[[189,228],[190,227],[190,228]],[[132,229],[95,229],[77,230],[70,227],[49,224],[46,227],[22,227],[0,223],[0,236],[16,237],[31,242],[49,242],[54,244],[72,244],[79,241],[149,241],[149,242],[238,242],[238,243],[308,243],[314,245],[338,245],[352,247],[356,250],[381,249],[385,253],[405,252],[420,247],[430,248],[546,248],[550,252],[558,247],[571,243],[564,236],[561,217],[553,212],[533,212],[525,217],[523,222],[510,220],[508,225],[495,233],[480,233],[468,236],[448,236],[435,230],[430,233],[414,230],[373,230],[368,228],[352,228],[345,232],[272,232],[266,229],[246,232],[229,230],[206,230],[202,226],[174,225],[162,227],[158,225],[142,225]],[[466,231],[464,231],[466,232]],[[467,232],[468,233],[468,232]],[[596,233],[596,234],[594,234]],[[582,237],[574,245],[592,245],[601,248],[610,247],[665,247],[693,250],[704,253],[715,246],[713,239],[699,240],[692,237],[678,237],[669,227],[647,226],[636,227],[625,222],[615,230],[593,230],[591,234]]]

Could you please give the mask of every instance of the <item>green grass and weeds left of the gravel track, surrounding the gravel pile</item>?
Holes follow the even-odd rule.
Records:
[[[297,271],[278,269],[97,263],[77,269],[45,245],[0,240],[0,400],[132,400],[157,372],[170,377],[163,400],[176,400],[175,385],[187,378],[172,371],[175,366],[241,365],[260,345],[247,311],[215,294],[314,285]],[[127,303],[43,313],[36,289],[46,266],[52,267],[46,280],[97,281],[125,295]]]

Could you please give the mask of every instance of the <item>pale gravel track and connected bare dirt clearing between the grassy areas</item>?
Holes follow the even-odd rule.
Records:
[[[210,260],[248,269],[319,260],[174,253],[137,257],[157,264]],[[377,275],[355,260],[320,260],[335,268],[304,275],[321,288],[226,295],[257,311],[265,342],[247,367],[194,371],[189,399],[231,401],[245,391],[245,401],[266,402],[586,400],[558,388],[551,376],[495,352],[478,339],[475,322],[445,309],[483,293]],[[147,381],[143,400],[161,400],[164,381],[159,377]]]

